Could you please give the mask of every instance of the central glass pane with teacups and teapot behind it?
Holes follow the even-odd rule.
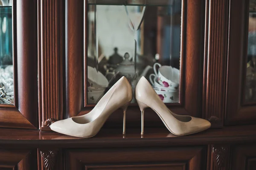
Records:
[[[181,0],[91,1],[87,103],[97,103],[122,76],[133,89],[144,76],[165,103],[178,103]]]

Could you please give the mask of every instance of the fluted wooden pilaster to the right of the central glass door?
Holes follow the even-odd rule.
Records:
[[[229,0],[206,1],[203,117],[212,127],[224,122]]]

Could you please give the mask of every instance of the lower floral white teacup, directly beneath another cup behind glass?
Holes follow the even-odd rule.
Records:
[[[178,103],[179,102],[179,91],[177,90],[169,90],[164,91],[163,89],[154,88],[157,92],[157,95],[163,101],[163,103]]]

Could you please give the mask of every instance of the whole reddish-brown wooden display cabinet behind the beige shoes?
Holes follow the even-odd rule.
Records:
[[[256,89],[251,84],[247,88],[248,75],[255,81],[254,74],[247,74],[248,67],[251,71],[256,66],[254,59],[248,61],[256,59],[248,45],[254,30],[250,25],[255,17],[253,0],[146,1],[148,15],[138,36],[148,37],[139,39],[143,45],[138,49],[154,52],[153,64],[159,61],[179,68],[178,102],[166,106],[177,114],[208,119],[211,129],[175,136],[153,110],[146,109],[141,137],[140,109],[133,103],[126,113],[126,136],[122,135],[121,110],[90,139],[50,131],[52,122],[87,114],[95,106],[88,99],[87,75],[90,64],[99,66],[99,56],[88,58],[89,52],[97,53],[88,47],[97,43],[91,40],[95,25],[88,22],[89,13],[95,12],[96,5],[107,8],[111,4],[122,8],[126,17],[128,3],[139,3],[133,10],[141,12],[142,2],[13,0],[14,100],[11,105],[0,104],[0,169],[256,169],[256,146],[251,145],[256,142],[256,101],[248,101],[247,96],[252,98]],[[179,4],[176,13],[173,3]],[[104,21],[111,25],[108,19]],[[128,23],[124,27],[130,29]],[[165,37],[179,41],[166,43]],[[162,47],[178,57],[168,53],[168,59],[162,60],[166,52]]]

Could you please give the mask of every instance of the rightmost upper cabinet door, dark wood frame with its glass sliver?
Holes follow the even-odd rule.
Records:
[[[254,6],[252,0],[230,1],[226,125],[256,122]]]

